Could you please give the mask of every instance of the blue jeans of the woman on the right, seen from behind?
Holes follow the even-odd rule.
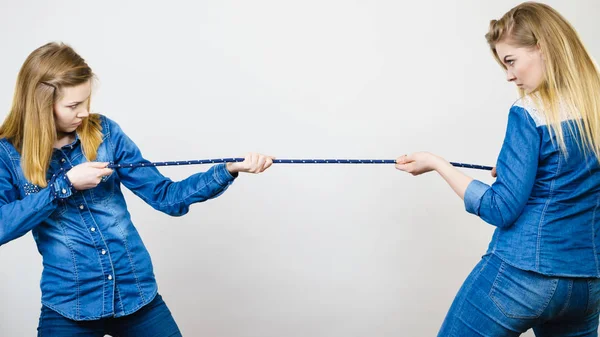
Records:
[[[598,336],[600,279],[550,277],[485,255],[462,285],[438,337]]]

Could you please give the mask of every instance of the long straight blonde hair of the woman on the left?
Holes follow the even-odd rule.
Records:
[[[63,88],[93,78],[83,58],[63,43],[51,42],[39,47],[21,67],[12,108],[0,126],[0,138],[9,140],[19,151],[25,178],[33,184],[47,185],[46,172],[57,140],[54,103],[61,98]],[[99,115],[85,118],[77,133],[84,155],[89,161],[95,160],[102,142]]]

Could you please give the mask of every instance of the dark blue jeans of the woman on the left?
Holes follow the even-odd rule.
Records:
[[[42,306],[38,337],[180,337],[171,311],[160,295],[140,310],[119,318],[73,321]]]

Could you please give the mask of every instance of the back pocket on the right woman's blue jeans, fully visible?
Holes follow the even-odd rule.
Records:
[[[502,262],[490,290],[490,298],[506,317],[536,319],[548,307],[557,285],[557,278]]]

